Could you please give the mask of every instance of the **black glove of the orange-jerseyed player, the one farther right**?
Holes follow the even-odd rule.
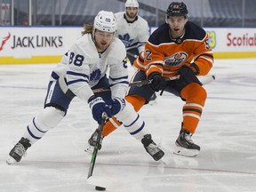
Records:
[[[188,67],[188,65],[182,66],[178,70],[178,73],[177,73],[178,75],[180,75],[180,78],[175,81],[177,86],[180,88],[180,90],[183,87],[185,87],[186,85],[191,84],[191,83],[197,83],[197,84],[202,85],[202,83],[196,77],[196,73],[198,73],[198,72],[199,71],[194,72],[194,70],[192,68]]]

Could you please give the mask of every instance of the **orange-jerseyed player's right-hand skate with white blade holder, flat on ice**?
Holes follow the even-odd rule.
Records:
[[[187,131],[180,131],[180,135],[175,142],[174,154],[180,156],[197,156],[200,147],[191,140],[192,134]]]

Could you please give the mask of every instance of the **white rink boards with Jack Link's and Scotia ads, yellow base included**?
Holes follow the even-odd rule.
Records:
[[[156,28],[150,28],[152,33]],[[0,64],[58,63],[83,28],[0,27]],[[215,59],[256,58],[256,28],[204,28]]]

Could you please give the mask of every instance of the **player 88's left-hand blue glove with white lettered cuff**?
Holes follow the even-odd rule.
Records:
[[[110,108],[101,97],[96,98],[95,96],[92,96],[88,100],[88,104],[92,110],[92,116],[98,124],[101,124],[103,112],[105,112],[109,117],[112,116]]]

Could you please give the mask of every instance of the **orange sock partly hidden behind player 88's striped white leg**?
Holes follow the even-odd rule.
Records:
[[[145,104],[145,98],[140,95],[128,95],[125,97],[125,100],[130,102],[135,109],[136,112],[140,110],[140,108]],[[102,130],[102,136],[106,137],[109,133],[114,132],[118,126],[120,126],[120,122],[117,121],[115,116],[112,116],[111,120],[109,120]]]

